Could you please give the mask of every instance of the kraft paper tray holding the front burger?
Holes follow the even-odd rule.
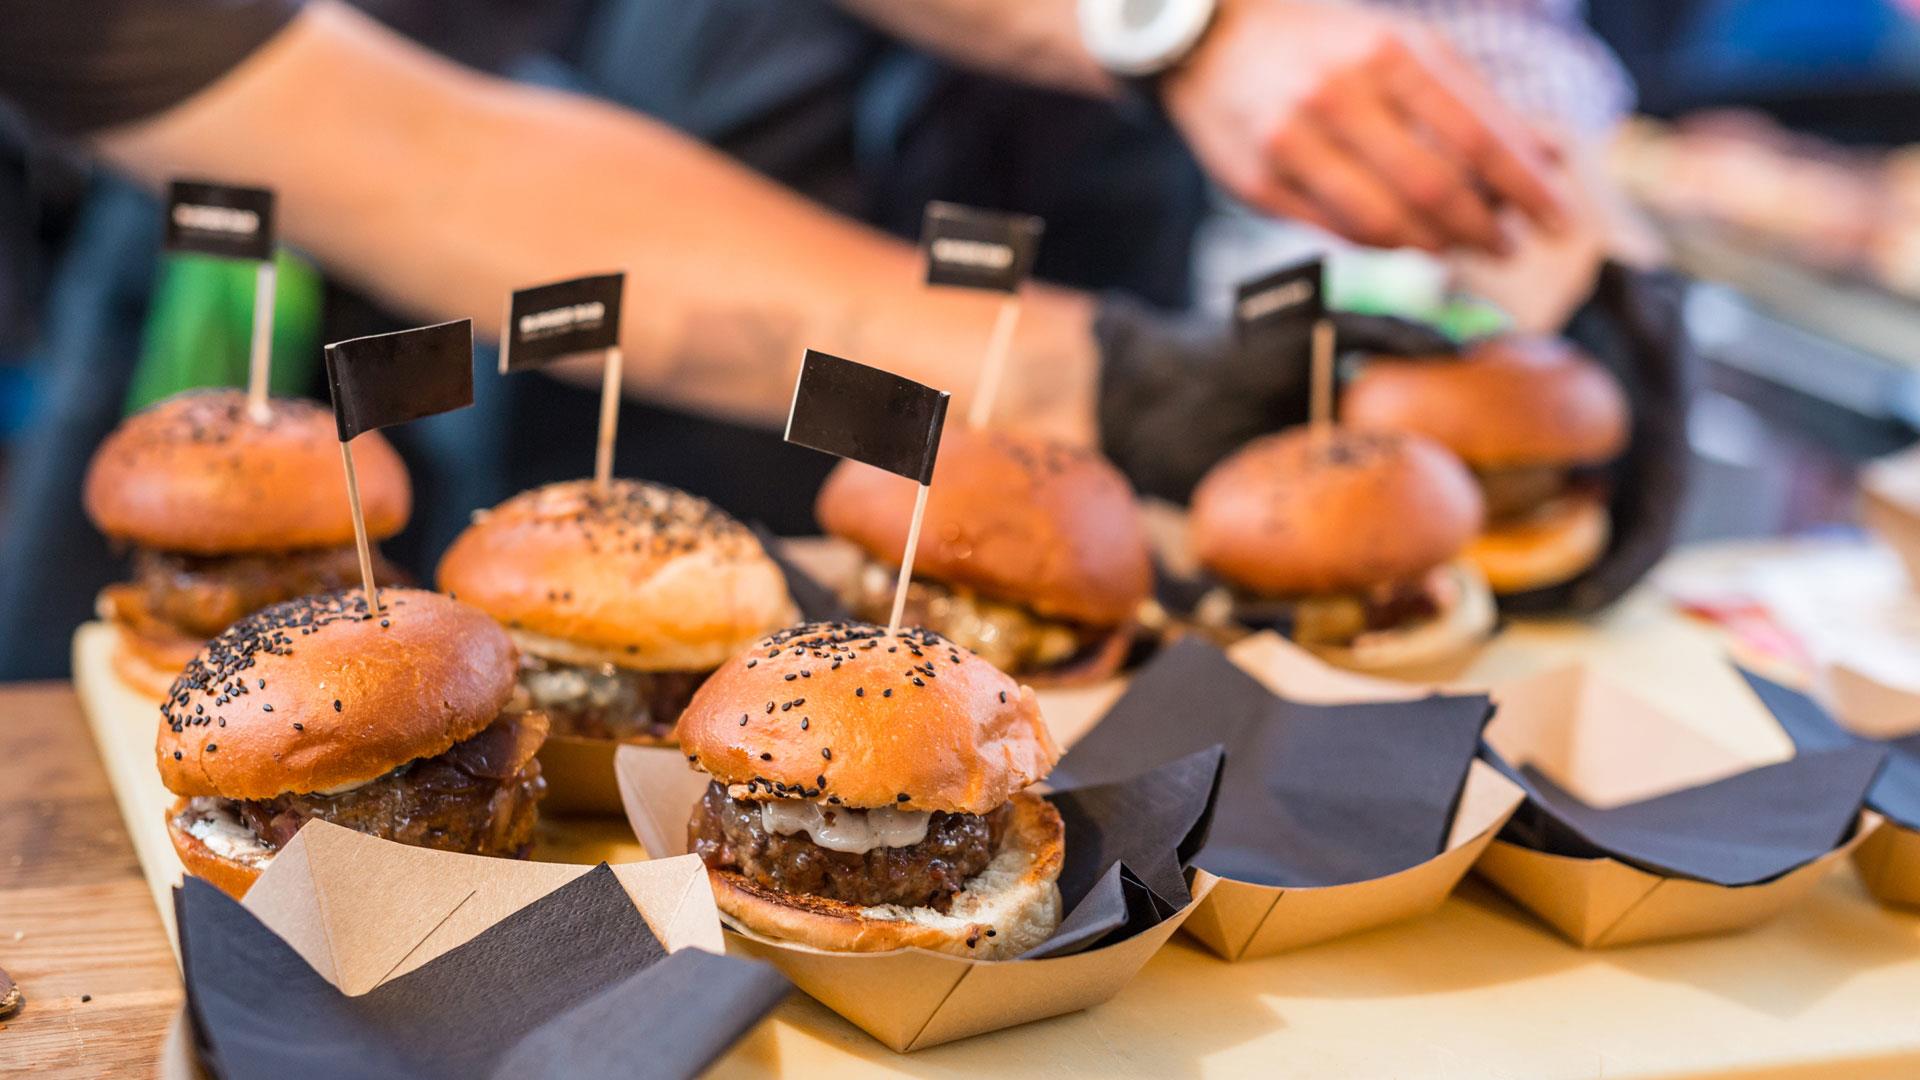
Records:
[[[685,821],[707,774],[687,769],[672,749],[647,748],[622,748],[616,774],[641,846],[655,855],[682,855]],[[927,949],[833,953],[739,930],[728,934],[728,944],[772,963],[822,1005],[906,1053],[1114,997],[1204,901],[1204,888],[1196,882],[1192,903],[1125,942],[1037,961],[975,961]]]

